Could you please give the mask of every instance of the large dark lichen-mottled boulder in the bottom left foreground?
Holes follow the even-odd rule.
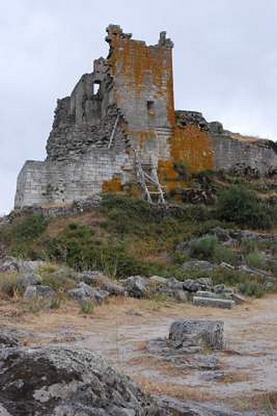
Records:
[[[0,352],[0,367],[1,415],[168,415],[89,350],[10,348]]]

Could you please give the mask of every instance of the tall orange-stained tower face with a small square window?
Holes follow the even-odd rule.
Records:
[[[172,47],[162,32],[158,44],[133,40],[119,26],[107,28],[110,46],[107,65],[113,78],[116,102],[127,121],[132,148],[146,164],[165,156],[172,135],[174,98]],[[162,145],[161,145],[162,144]],[[167,156],[169,153],[167,153]]]

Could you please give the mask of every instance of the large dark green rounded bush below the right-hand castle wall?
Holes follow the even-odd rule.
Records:
[[[269,228],[273,224],[271,211],[256,193],[240,186],[218,193],[217,215],[221,220],[253,228]]]

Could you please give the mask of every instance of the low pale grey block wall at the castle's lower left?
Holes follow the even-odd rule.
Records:
[[[27,161],[17,179],[15,208],[86,199],[114,177],[126,182],[130,170],[129,156],[111,149],[97,149],[71,162]]]

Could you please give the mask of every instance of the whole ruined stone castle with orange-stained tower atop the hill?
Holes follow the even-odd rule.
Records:
[[[199,112],[175,111],[173,43],[165,32],[148,46],[109,25],[105,40],[107,58],[95,60],[71,95],[57,101],[46,160],[24,164],[15,207],[120,191],[136,180],[137,157],[166,190],[177,186],[178,164],[191,171],[276,171],[274,142],[233,135]]]

